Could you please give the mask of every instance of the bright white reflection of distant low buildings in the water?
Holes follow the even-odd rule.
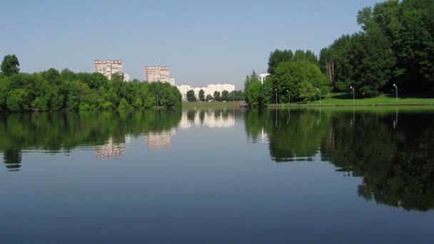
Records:
[[[194,111],[194,117],[188,118],[188,111],[182,112],[178,128],[186,129],[192,126],[207,126],[210,128],[229,128],[235,126],[235,116],[223,111]]]

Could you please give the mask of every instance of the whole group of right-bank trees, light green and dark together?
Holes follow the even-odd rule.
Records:
[[[434,91],[434,1],[389,0],[358,11],[361,31],[345,34],[321,50],[276,50],[262,84],[246,77],[251,106],[310,101],[350,87],[360,98],[393,92]],[[321,95],[320,95],[321,91]]]

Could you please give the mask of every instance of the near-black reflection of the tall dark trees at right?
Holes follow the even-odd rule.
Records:
[[[323,159],[363,177],[358,194],[367,200],[406,210],[434,208],[434,115],[401,114],[397,127],[395,114],[360,114],[354,128],[345,126],[349,116],[333,119],[335,144],[321,146]]]

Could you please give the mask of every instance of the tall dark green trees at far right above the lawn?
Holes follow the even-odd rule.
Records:
[[[359,96],[434,91],[434,1],[389,0],[358,12],[360,33],[321,50],[321,70],[335,91]]]

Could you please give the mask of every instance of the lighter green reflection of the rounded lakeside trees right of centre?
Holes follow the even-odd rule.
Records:
[[[246,113],[246,131],[253,142],[265,132],[273,161],[311,160],[327,126],[319,118],[319,111],[252,109]]]

